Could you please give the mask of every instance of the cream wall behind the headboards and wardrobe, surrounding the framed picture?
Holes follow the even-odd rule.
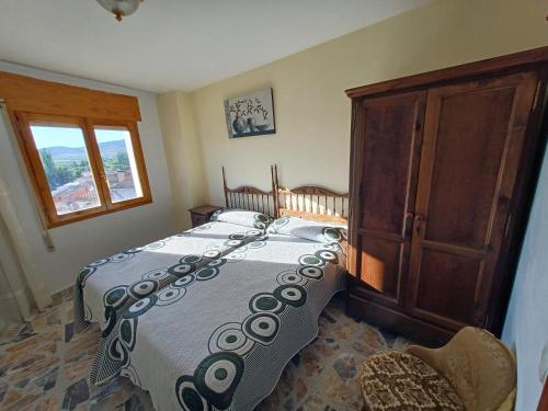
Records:
[[[274,162],[284,185],[346,191],[351,106],[345,89],[547,45],[546,13],[544,0],[437,0],[194,91],[208,186],[204,199],[222,204],[221,165],[230,185],[269,189]],[[235,58],[238,53],[250,50],[235,49]],[[277,134],[229,140],[224,99],[264,87],[274,89]],[[181,147],[168,156],[182,152]]]

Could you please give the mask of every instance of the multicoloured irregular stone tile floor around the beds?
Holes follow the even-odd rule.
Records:
[[[73,333],[69,293],[22,329],[0,340],[0,409],[153,410],[149,395],[119,377],[104,387],[88,384],[99,327]],[[271,410],[361,410],[357,378],[368,355],[403,350],[404,339],[344,315],[335,296],[320,317],[318,338],[286,366],[274,391],[258,407]]]

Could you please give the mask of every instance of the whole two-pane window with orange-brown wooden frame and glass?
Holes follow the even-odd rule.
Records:
[[[50,227],[151,202],[135,122],[15,116]]]

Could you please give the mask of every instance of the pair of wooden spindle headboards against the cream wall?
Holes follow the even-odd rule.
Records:
[[[229,189],[222,168],[226,207],[250,209],[274,218],[293,216],[322,222],[347,224],[349,193],[336,193],[320,185],[282,187],[277,165],[271,165],[271,178],[270,192],[250,185]]]

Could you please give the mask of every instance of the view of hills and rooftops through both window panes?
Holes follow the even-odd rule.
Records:
[[[57,214],[101,205],[85,147],[78,126],[31,125]],[[142,196],[129,132],[125,128],[95,127],[112,202]]]

